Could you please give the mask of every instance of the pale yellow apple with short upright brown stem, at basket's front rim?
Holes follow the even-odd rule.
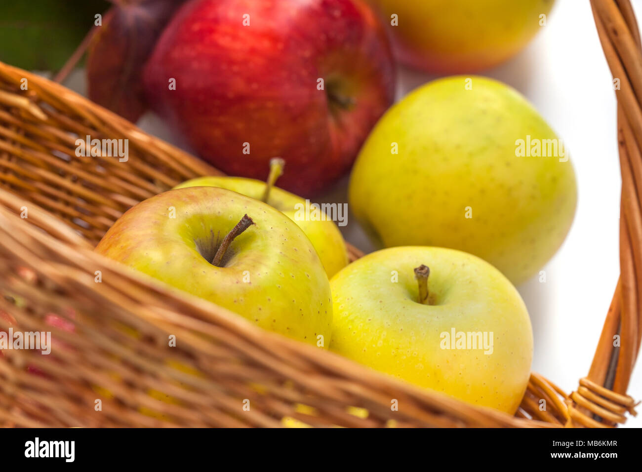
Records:
[[[533,354],[516,288],[476,256],[395,247],[334,275],[331,351],[474,405],[513,414]]]

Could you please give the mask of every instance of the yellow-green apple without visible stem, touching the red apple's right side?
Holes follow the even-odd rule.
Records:
[[[577,188],[563,141],[523,96],[454,76],[386,112],[356,161],[349,201],[381,245],[464,250],[519,284],[564,241]]]

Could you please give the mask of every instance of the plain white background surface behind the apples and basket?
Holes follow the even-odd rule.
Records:
[[[642,0],[633,3],[641,19]],[[483,75],[515,87],[535,105],[564,140],[577,173],[575,222],[562,248],[543,268],[546,283],[534,277],[518,287],[533,324],[533,370],[571,392],[589,371],[620,272],[616,98],[589,2],[558,0],[529,46]],[[401,70],[397,97],[433,78]],[[74,73],[65,85],[84,92],[83,73]],[[155,116],[144,116],[139,126],[176,142]],[[345,202],[346,186],[343,179],[315,201]],[[343,229],[348,241],[372,250],[354,218]],[[639,365],[629,394],[642,399]],[[630,417],[626,426],[642,427],[642,419]]]

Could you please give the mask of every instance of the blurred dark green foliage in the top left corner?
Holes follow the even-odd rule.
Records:
[[[0,61],[57,71],[94,26],[106,0],[1,0]]]

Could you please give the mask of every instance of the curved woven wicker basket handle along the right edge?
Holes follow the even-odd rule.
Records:
[[[589,374],[570,396],[571,421],[604,427],[636,415],[627,388],[642,335],[642,47],[629,0],[591,0],[595,25],[612,76],[619,79],[618,148],[620,279]]]

